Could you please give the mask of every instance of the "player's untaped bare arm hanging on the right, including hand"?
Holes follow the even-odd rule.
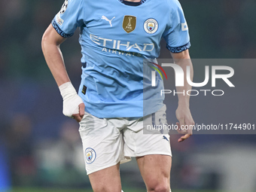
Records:
[[[186,74],[187,66],[190,66],[190,78],[192,81],[194,72],[188,50],[184,50],[181,53],[172,53],[172,58],[174,59],[175,64],[181,66],[184,74]],[[185,76],[186,75],[184,75],[184,87],[176,87],[177,92],[184,91],[186,93],[187,90],[191,90],[191,86],[187,83]],[[176,110],[176,117],[179,122],[176,124],[178,125],[178,133],[184,134],[184,136],[181,136],[181,138],[178,139],[178,142],[183,142],[192,135],[192,130],[182,130],[182,128],[184,128],[186,125],[194,125],[194,120],[190,113],[189,100],[190,96],[187,94],[178,94],[178,108]]]

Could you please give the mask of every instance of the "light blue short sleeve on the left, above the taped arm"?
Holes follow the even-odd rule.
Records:
[[[63,38],[71,37],[84,24],[83,0],[66,0],[53,18],[52,26]]]

